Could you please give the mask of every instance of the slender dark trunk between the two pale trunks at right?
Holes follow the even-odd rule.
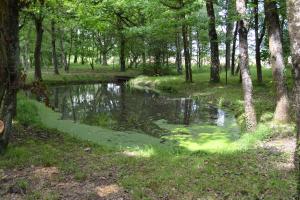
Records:
[[[261,53],[259,43],[259,21],[258,21],[258,0],[254,0],[254,17],[255,17],[255,59],[256,59],[256,72],[257,82],[262,83],[262,67],[261,67]]]

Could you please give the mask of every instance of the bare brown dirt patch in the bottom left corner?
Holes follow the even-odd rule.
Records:
[[[106,199],[129,200],[129,194],[115,183],[111,175],[77,181],[65,176],[56,167],[32,167],[4,171],[0,179],[1,200],[27,199]]]

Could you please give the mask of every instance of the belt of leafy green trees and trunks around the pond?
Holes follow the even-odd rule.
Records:
[[[220,82],[223,59],[226,72],[240,72],[247,129],[255,130],[249,35],[254,38],[257,80],[263,81],[261,60],[269,58],[277,96],[275,120],[286,122],[284,70],[290,49],[300,98],[299,13],[299,0],[2,0],[0,105],[5,131],[0,149],[7,145],[15,115],[20,64],[24,69],[34,66],[35,79],[41,81],[42,66],[53,65],[58,74],[60,67],[68,72],[72,62],[94,68],[118,57],[121,71],[152,65],[159,72],[174,63],[178,73],[185,69],[190,83],[192,64],[201,67],[207,58],[210,81]]]

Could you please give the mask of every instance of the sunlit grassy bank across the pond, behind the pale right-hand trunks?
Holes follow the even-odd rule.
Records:
[[[271,69],[263,70],[263,84],[256,81],[255,71],[252,71],[253,97],[258,121],[270,121],[275,110],[276,98]],[[199,98],[206,103],[225,106],[231,109],[240,123],[243,123],[244,99],[239,76],[228,75],[225,84],[225,73],[221,73],[221,83],[209,82],[208,70],[194,70],[193,83],[185,83],[184,76],[148,77],[140,76],[130,80],[130,87],[155,92],[173,93],[177,95]],[[288,87],[291,91],[292,81],[288,75]],[[293,113],[293,112],[291,112]]]

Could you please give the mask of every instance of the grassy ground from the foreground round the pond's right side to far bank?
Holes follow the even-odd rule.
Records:
[[[238,77],[230,78],[225,85],[210,84],[208,76],[195,73],[193,84],[185,84],[180,76],[143,76],[129,85],[199,97],[227,106],[242,123]],[[255,145],[231,151],[170,152],[153,146],[149,149],[151,153],[136,153],[75,139],[57,129],[22,126],[16,122],[12,143],[6,154],[0,155],[0,197],[4,200],[296,199],[293,129],[290,125],[269,123],[274,93],[270,73],[266,72],[264,77],[263,85],[254,83],[254,96],[260,124],[268,124],[269,128],[253,134]],[[49,78],[51,81],[55,82]],[[241,142],[249,143],[252,139],[246,137]],[[257,142],[261,139],[264,140]]]

